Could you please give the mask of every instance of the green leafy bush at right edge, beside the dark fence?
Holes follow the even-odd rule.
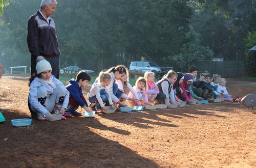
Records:
[[[249,33],[244,39],[244,65],[249,76],[256,77],[256,51],[249,49],[256,45],[256,32]]]

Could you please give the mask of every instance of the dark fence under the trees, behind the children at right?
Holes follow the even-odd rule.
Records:
[[[198,61],[190,65],[195,65],[199,72],[208,71],[210,75],[219,74],[222,77],[245,76],[243,61]]]

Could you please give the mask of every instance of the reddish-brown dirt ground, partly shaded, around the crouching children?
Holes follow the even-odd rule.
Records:
[[[256,167],[256,110],[236,102],[13,127],[30,118],[28,78],[0,79],[0,167]],[[227,89],[256,94],[256,81],[228,78]]]

